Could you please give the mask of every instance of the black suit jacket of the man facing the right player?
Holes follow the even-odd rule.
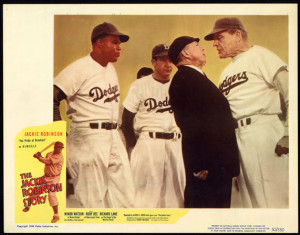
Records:
[[[227,179],[231,187],[231,178],[239,175],[240,168],[227,99],[205,75],[187,66],[178,68],[169,94],[176,123],[182,132],[187,189],[193,193],[192,187],[198,187],[191,184],[195,183],[193,172],[200,170],[208,170],[207,182]]]

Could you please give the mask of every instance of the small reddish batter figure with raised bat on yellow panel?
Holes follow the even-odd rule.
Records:
[[[44,168],[44,179],[46,181],[46,185],[56,185],[59,183],[60,180],[60,173],[62,170],[62,165],[64,163],[64,158],[61,153],[62,149],[64,148],[64,144],[57,141],[54,144],[54,151],[47,153],[46,157],[42,157],[42,152],[48,149],[49,147],[53,146],[53,144],[49,145],[47,148],[42,150],[41,152],[37,152],[33,155],[34,158],[38,159],[41,163],[45,164]],[[56,197],[56,191],[52,192],[49,191],[48,193],[48,200],[50,206],[53,208],[54,216],[51,220],[51,223],[56,223],[59,220],[58,215],[58,200]],[[29,211],[30,206],[26,206],[23,211]]]

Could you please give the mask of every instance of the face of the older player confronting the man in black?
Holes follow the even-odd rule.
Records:
[[[238,54],[237,42],[239,41],[238,33],[229,33],[227,31],[214,34],[214,44],[216,47],[219,57],[221,59],[234,57]]]

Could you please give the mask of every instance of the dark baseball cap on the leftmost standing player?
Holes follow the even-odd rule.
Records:
[[[91,35],[92,43],[94,43],[98,37],[107,35],[119,36],[121,42],[127,42],[129,40],[129,36],[119,32],[119,30],[113,24],[104,22],[102,24],[97,25],[93,29]]]

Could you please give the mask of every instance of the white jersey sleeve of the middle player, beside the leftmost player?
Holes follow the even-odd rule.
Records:
[[[140,106],[140,92],[139,80],[132,83],[128,95],[123,103],[123,106],[131,113],[137,113]]]

